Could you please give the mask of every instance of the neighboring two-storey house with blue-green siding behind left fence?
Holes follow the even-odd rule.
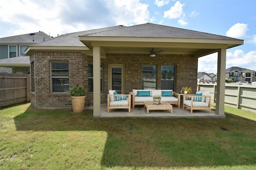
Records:
[[[25,50],[29,45],[49,39],[52,37],[41,31],[0,38],[1,72],[30,74],[30,59]]]

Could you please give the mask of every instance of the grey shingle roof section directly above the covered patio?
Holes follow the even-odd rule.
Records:
[[[144,23],[120,29],[101,31],[98,33],[83,34],[86,36],[119,36],[119,37],[168,37],[168,38],[204,38],[204,39],[232,39],[222,35],[192,31],[188,29],[158,25],[153,23]]]

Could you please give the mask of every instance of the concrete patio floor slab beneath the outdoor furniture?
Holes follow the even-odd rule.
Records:
[[[87,107],[88,108],[88,107]],[[93,109],[93,106],[90,106],[90,109]],[[131,108],[131,112],[128,112],[128,109],[110,109],[110,112],[107,112],[107,104],[102,104],[100,106],[101,115],[100,117],[162,117],[162,118],[177,118],[177,117],[187,117],[187,118],[216,118],[216,119],[225,119],[226,115],[217,115],[215,111],[209,110],[193,110],[193,113],[190,114],[189,109],[183,110],[183,106],[180,105],[180,109],[177,105],[172,106],[173,114],[170,113],[170,110],[150,110],[147,114],[147,109],[143,108],[143,105],[137,105],[134,109]]]

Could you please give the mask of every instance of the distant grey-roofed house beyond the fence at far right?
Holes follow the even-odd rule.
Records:
[[[226,69],[226,79],[232,77],[234,82],[254,82],[256,81],[256,71],[233,66]]]

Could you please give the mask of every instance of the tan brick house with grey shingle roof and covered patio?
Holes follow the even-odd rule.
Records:
[[[93,105],[93,115],[100,116],[108,90],[128,94],[148,85],[174,91],[190,86],[195,93],[198,57],[218,52],[216,114],[224,115],[226,49],[243,42],[152,23],[60,35],[26,50],[31,104],[38,109],[71,107],[68,90],[81,85],[87,89],[86,105]],[[168,83],[162,83],[164,78]]]

